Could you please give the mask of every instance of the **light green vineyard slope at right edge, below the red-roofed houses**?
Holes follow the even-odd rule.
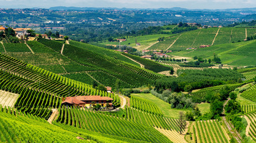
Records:
[[[253,48],[256,41],[246,41],[237,43],[226,43],[221,45],[210,46],[206,48],[195,49],[193,51],[173,52],[172,55],[182,57],[201,57],[213,58],[213,53],[217,54],[223,64],[232,66],[255,66],[256,49]]]

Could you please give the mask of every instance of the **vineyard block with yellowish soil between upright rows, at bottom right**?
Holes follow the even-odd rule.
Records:
[[[188,129],[186,141],[191,143],[218,143],[229,142],[227,133],[222,129],[221,123],[215,120],[196,121],[191,123]]]

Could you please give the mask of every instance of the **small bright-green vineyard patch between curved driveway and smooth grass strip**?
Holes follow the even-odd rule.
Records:
[[[137,110],[162,116],[161,110],[159,110],[159,108],[152,101],[145,100],[143,98],[139,98],[131,95],[130,104],[131,104],[131,107],[136,108]]]

